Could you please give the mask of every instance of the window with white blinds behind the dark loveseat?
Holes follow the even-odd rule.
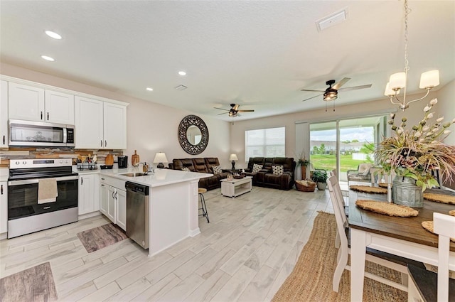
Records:
[[[284,127],[245,131],[245,160],[250,157],[284,157]]]

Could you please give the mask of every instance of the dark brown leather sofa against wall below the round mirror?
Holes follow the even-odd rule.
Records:
[[[169,168],[174,170],[188,170],[199,173],[213,173],[213,176],[200,178],[199,188],[213,190],[221,187],[221,179],[227,178],[229,172],[214,173],[213,167],[220,166],[217,157],[205,158],[174,158],[172,163],[168,164]],[[220,168],[221,169],[221,168]],[[216,170],[216,168],[215,168]],[[216,171],[215,171],[216,172]]]

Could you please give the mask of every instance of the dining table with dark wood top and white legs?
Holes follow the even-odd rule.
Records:
[[[441,189],[432,189],[429,193],[455,195]],[[367,247],[437,266],[438,236],[425,230],[422,222],[432,221],[434,212],[449,214],[455,210],[455,205],[424,200],[424,207],[415,208],[419,211],[416,217],[392,217],[357,207],[355,201],[359,199],[387,203],[387,194],[349,190],[350,301],[354,302],[363,299]],[[450,250],[449,268],[455,270],[454,242]]]

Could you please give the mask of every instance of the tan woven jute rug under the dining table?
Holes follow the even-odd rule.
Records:
[[[340,291],[332,290],[336,268],[335,215],[319,212],[310,238],[302,249],[294,270],[284,281],[272,301],[350,301],[350,271],[344,271]],[[366,262],[367,271],[400,282],[401,275],[378,264]],[[363,301],[407,301],[407,293],[365,278]]]

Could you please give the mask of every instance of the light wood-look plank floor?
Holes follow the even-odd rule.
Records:
[[[205,193],[210,223],[154,257],[130,239],[88,254],[77,232],[102,215],[0,242],[0,276],[50,262],[60,301],[270,301],[291,273],[328,190]],[[14,288],[11,288],[14,290]]]

